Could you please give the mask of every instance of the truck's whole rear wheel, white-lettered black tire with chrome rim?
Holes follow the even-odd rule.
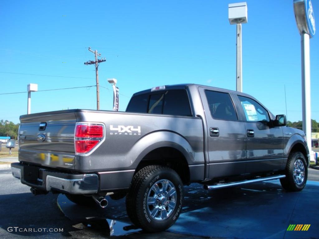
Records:
[[[182,180],[173,169],[146,166],[133,177],[126,197],[127,214],[145,231],[166,230],[181,213],[183,193]]]

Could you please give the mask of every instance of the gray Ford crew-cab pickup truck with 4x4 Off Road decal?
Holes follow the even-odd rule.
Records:
[[[303,131],[286,127],[250,95],[197,84],[135,93],[126,112],[62,110],[20,116],[14,177],[34,195],[64,193],[80,205],[126,196],[130,220],[169,228],[181,213],[183,185],[216,189],[280,179],[286,191],[307,182]]]

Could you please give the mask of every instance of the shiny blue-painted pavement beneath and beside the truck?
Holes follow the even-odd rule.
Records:
[[[106,208],[87,207],[76,205],[60,194],[57,204],[72,223],[101,235],[146,235],[131,224],[125,198],[107,199]],[[318,199],[319,183],[314,181],[308,181],[301,192],[285,192],[279,180],[213,191],[192,184],[185,186],[180,218],[167,231],[219,238],[319,238]],[[289,224],[311,226],[308,231],[286,231]]]

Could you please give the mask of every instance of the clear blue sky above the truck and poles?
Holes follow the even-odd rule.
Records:
[[[94,59],[87,47],[107,59],[99,67],[100,84],[111,89],[107,78],[118,80],[121,111],[134,92],[158,85],[198,83],[235,90],[236,27],[229,24],[228,4],[236,2],[4,1],[0,93],[26,91],[28,83],[37,83],[39,90],[95,85],[94,66],[84,65]],[[319,25],[319,3],[312,3]],[[286,85],[288,120],[302,120],[293,0],[247,0],[247,5],[243,91],[275,115],[285,114]],[[311,118],[317,121],[318,34],[310,39]],[[17,123],[26,114],[27,93],[0,95],[0,101],[0,119]],[[113,92],[100,88],[100,109],[112,110],[112,104]],[[65,108],[96,109],[95,88],[32,93],[32,113]]]

